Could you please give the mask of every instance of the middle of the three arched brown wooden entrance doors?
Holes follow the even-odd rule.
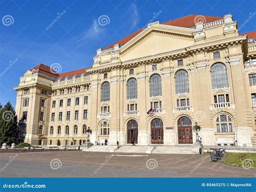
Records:
[[[159,118],[151,121],[151,143],[163,144],[164,143],[164,126],[163,121]]]

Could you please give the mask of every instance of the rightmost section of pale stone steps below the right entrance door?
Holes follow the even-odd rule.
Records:
[[[157,146],[153,154],[198,154],[193,152],[192,146]]]

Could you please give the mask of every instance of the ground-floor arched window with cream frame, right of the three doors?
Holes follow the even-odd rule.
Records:
[[[233,125],[231,116],[227,114],[220,114],[216,118],[217,132],[233,132]]]

